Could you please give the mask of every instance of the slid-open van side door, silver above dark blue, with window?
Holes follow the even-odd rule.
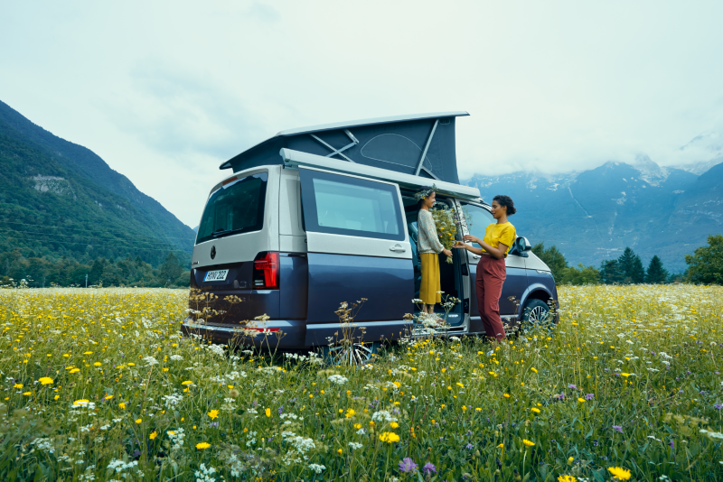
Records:
[[[343,301],[366,298],[356,321],[402,320],[414,270],[397,184],[299,167],[308,248],[308,322],[338,321]]]

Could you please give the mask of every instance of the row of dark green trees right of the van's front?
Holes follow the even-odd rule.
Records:
[[[549,266],[559,284],[723,284],[723,235],[709,236],[708,246],[700,246],[692,255],[686,255],[688,269],[684,273],[669,273],[658,255],[654,255],[645,268],[643,260],[629,246],[620,257],[603,261],[599,269],[582,263],[577,267],[568,266],[556,246],[545,248],[544,243],[532,246],[532,253]]]

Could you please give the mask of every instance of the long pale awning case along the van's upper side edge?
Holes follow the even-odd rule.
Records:
[[[412,174],[380,169],[378,167],[367,166],[355,162],[338,161],[329,157],[302,153],[300,151],[294,151],[286,148],[282,148],[279,154],[281,155],[281,159],[284,161],[285,167],[310,167],[324,169],[325,171],[355,174],[379,181],[395,182],[399,184],[400,188],[411,190],[418,190],[419,188],[435,184],[435,186],[437,186],[437,193],[439,194],[469,200],[480,199],[480,190],[471,186],[463,186],[461,184],[446,181],[431,180],[428,178],[414,176]]]

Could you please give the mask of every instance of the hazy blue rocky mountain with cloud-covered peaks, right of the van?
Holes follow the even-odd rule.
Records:
[[[532,244],[558,246],[571,264],[598,265],[626,246],[647,262],[659,255],[671,272],[686,268],[685,255],[723,232],[723,164],[696,175],[661,167],[647,156],[635,165],[606,164],[589,171],[545,175],[515,172],[474,177],[491,202],[512,197],[511,219]]]

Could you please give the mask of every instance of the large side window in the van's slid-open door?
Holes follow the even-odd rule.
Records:
[[[403,241],[396,186],[299,170],[306,231]]]

